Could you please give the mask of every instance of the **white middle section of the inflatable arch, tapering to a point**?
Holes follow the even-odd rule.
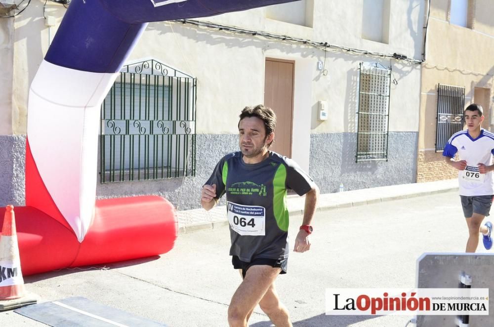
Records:
[[[94,217],[100,104],[118,74],[83,72],[43,60],[29,91],[31,152],[79,242]]]

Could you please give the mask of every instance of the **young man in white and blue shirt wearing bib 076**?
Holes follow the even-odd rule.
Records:
[[[484,121],[481,105],[469,105],[463,116],[467,129],[453,134],[443,156],[446,163],[459,170],[459,193],[469,233],[466,252],[475,252],[479,244],[479,231],[483,235],[485,248],[489,250],[493,245],[492,223],[481,224],[489,215],[494,195],[494,134],[481,128]],[[453,161],[456,152],[459,161]]]

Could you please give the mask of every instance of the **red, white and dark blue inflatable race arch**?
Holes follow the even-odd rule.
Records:
[[[173,247],[177,223],[165,199],[95,201],[100,106],[147,23],[291,1],[71,2],[29,92],[26,206],[15,208],[24,275]]]

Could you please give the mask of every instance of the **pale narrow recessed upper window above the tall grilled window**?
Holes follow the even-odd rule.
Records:
[[[362,39],[389,42],[390,0],[364,0],[362,6]]]

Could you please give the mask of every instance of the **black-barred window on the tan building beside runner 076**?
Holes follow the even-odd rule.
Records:
[[[465,88],[438,84],[436,151],[443,151],[451,135],[463,129]]]

